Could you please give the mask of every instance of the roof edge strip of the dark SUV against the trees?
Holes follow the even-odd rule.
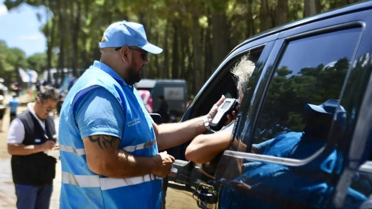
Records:
[[[282,31],[285,31],[285,30],[288,30],[288,29],[291,29],[291,28],[296,28],[298,26],[305,25],[305,24],[308,24],[308,23],[311,23],[311,22],[316,22],[316,21],[327,19],[327,18],[330,18],[330,17],[340,16],[340,15],[344,15],[344,14],[347,14],[347,13],[357,12],[359,10],[366,10],[366,9],[371,9],[371,8],[372,8],[372,1],[366,1],[366,2],[355,3],[355,4],[347,5],[347,6],[344,6],[344,7],[340,7],[340,8],[334,9],[334,10],[330,10],[328,12],[320,13],[318,15],[305,17],[301,20],[296,20],[294,22],[287,23],[285,25],[280,25],[278,27],[275,27],[275,28],[266,30],[264,32],[258,33],[257,35],[251,36],[250,38],[246,39],[241,44],[236,46],[232,51],[234,51],[235,49],[239,48],[240,46],[242,46],[244,44],[247,44],[248,42],[252,42],[254,40],[263,38],[265,36],[269,36],[269,35],[272,35],[272,34],[275,34],[275,33],[278,33],[278,32],[282,32]]]

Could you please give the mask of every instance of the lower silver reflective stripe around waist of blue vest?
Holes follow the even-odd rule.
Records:
[[[99,178],[98,175],[74,175],[72,173],[62,171],[62,183],[72,184],[78,187],[101,187],[102,190],[115,189],[119,187],[141,184],[148,181],[160,179],[154,174],[144,176],[131,177],[126,179]]]

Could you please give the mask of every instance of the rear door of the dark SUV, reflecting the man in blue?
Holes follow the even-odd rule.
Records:
[[[358,67],[370,61],[358,60],[371,50],[370,42],[361,45],[370,14],[280,33],[254,93],[244,96],[231,146],[215,172],[219,208],[332,205],[370,73]]]

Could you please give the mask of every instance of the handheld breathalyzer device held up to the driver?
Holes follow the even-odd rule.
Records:
[[[218,107],[217,114],[214,116],[212,123],[210,124],[213,131],[219,131],[226,123],[227,115],[231,115],[232,111],[238,106],[236,99],[227,98]]]

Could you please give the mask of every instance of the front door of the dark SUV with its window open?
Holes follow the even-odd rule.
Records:
[[[257,70],[255,71],[257,73],[253,77],[256,77],[257,80],[277,36],[278,34],[271,35],[259,41],[246,43],[228,55],[199,91],[186,110],[182,120],[207,114],[214,103],[221,97],[221,94],[224,94],[227,98],[238,98],[234,77],[230,72],[231,68],[244,55],[248,55],[250,60],[256,63]],[[215,198],[217,195],[209,196],[209,194],[206,194],[203,196],[204,193],[198,189],[201,187],[206,190],[211,188],[210,190],[213,193],[214,169],[210,165],[186,161],[185,150],[188,144],[167,150],[169,154],[176,158],[176,161],[173,164],[174,172],[163,180],[163,197],[165,198],[163,198],[162,208],[199,208],[195,200],[198,198],[208,202],[199,203],[199,206],[216,208],[217,200]],[[198,190],[199,194],[197,193]]]

